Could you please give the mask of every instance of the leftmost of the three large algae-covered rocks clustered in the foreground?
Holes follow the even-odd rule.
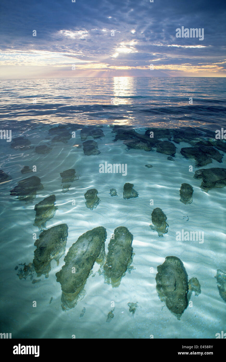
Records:
[[[51,270],[51,260],[55,259],[59,265],[59,259],[65,253],[67,236],[67,224],[60,224],[44,230],[39,235],[39,239],[35,240],[34,246],[34,268],[40,277],[45,274],[46,278]]]

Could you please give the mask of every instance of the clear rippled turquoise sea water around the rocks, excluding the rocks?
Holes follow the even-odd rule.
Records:
[[[113,127],[143,135],[152,127],[181,129],[184,135],[193,129],[200,139],[214,140],[215,130],[226,129],[225,99],[224,78],[1,80],[0,129],[12,131],[11,142],[0,139],[0,169],[12,178],[0,184],[1,333],[12,333],[12,338],[216,338],[216,333],[226,332],[225,301],[214,278],[218,269],[226,272],[226,188],[207,192],[200,188],[202,180],[193,177],[200,168],[226,168],[225,152],[219,151],[222,163],[213,159],[196,167],[194,160],[180,153],[181,148],[192,147],[187,142],[171,139],[176,153],[170,161],[155,148],[147,152],[128,148],[121,139],[115,142],[117,127]],[[75,132],[66,143],[53,142],[54,135],[49,133],[59,125]],[[85,126],[101,127],[104,136],[87,137],[97,142],[99,154],[84,154],[80,132]],[[30,146],[13,148],[17,137],[28,139]],[[35,147],[43,145],[51,147],[51,152],[35,152]],[[127,164],[127,174],[100,173],[99,165],[105,162]],[[22,174],[24,166],[36,171]],[[62,193],[60,173],[67,169],[75,169],[78,180]],[[39,177],[43,185],[36,198],[26,203],[10,195],[19,181],[31,176]],[[126,182],[134,184],[138,197],[123,198]],[[180,202],[182,183],[193,187],[191,204]],[[100,203],[90,210],[84,193],[94,188]],[[117,189],[115,197],[109,194],[112,188]],[[113,288],[106,283],[95,262],[85,292],[67,311],[62,310],[62,291],[55,276],[65,264],[65,255],[58,266],[51,261],[47,278],[35,273],[26,279],[17,275],[33,262],[34,242],[41,232],[33,225],[34,206],[52,194],[58,209],[46,228],[67,224],[65,255],[80,235],[98,226],[106,228],[106,254],[117,227],[125,226],[133,235],[133,268],[126,271],[120,285]],[[169,227],[163,237],[150,228],[156,207],[167,216]],[[177,241],[176,232],[182,229],[204,232],[204,242]],[[199,295],[192,293],[180,319],[156,291],[157,266],[167,256],[180,258],[188,279],[196,277],[201,286]],[[134,314],[127,303],[137,303]],[[107,322],[110,311],[114,316]]]

